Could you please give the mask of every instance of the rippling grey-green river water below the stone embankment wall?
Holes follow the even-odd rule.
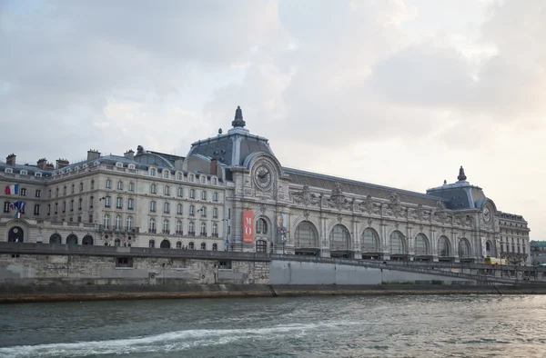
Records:
[[[544,357],[546,296],[0,306],[0,357]]]

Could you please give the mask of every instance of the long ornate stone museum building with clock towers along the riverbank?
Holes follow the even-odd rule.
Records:
[[[282,166],[232,128],[187,156],[87,152],[70,164],[0,162],[0,238],[8,242],[233,250],[378,260],[531,261],[529,227],[457,181],[416,193]]]

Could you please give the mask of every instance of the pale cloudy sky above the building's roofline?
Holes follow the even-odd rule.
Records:
[[[187,154],[237,105],[286,166],[425,192],[463,165],[546,240],[543,0],[0,0],[0,153]]]

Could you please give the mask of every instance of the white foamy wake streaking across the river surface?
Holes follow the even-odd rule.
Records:
[[[301,336],[321,327],[359,325],[359,322],[283,324],[268,328],[186,330],[135,338],[76,343],[18,345],[0,348],[0,358],[84,357],[102,354],[167,353],[191,348],[228,344],[244,339],[270,340],[283,336]]]

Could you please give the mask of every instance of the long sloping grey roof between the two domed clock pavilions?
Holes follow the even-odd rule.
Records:
[[[439,196],[421,194],[389,186],[358,182],[336,176],[305,172],[293,168],[285,167],[283,170],[285,174],[288,174],[288,176],[292,179],[294,184],[299,185],[308,185],[315,188],[332,190],[334,189],[334,185],[339,182],[339,184],[341,184],[341,190],[347,194],[358,194],[363,196],[371,195],[372,197],[389,199],[389,195],[392,192],[395,192],[399,194],[399,199],[403,203],[423,204],[428,206],[436,206],[436,203],[439,200],[445,201],[445,199]]]

